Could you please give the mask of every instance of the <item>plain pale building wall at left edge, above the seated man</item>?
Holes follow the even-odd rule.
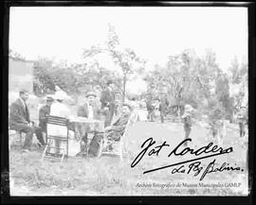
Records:
[[[9,92],[27,89],[33,94],[33,61],[9,58]]]

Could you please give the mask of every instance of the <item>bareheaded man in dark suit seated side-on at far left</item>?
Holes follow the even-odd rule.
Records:
[[[23,149],[28,152],[32,145],[35,128],[33,127],[33,122],[30,121],[29,111],[27,108],[27,90],[21,90],[19,95],[19,98],[10,105],[9,128],[26,133],[26,140],[23,145]]]

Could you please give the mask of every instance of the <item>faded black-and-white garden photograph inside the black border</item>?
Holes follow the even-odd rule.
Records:
[[[248,196],[245,7],[10,7],[10,196]]]

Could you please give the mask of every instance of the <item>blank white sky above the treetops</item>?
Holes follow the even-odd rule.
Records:
[[[198,56],[212,49],[224,70],[234,57],[247,61],[246,8],[12,7],[9,48],[27,60],[82,62],[83,48],[106,42],[108,23],[121,46],[148,61],[147,69],[187,48]],[[106,57],[101,63],[115,69]]]

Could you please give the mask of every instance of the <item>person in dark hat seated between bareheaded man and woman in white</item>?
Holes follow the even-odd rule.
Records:
[[[53,101],[54,99],[52,96],[46,96],[46,105],[39,110],[39,128],[35,130],[35,133],[41,145],[46,145],[43,132],[46,133],[47,116],[50,113],[50,107]]]

